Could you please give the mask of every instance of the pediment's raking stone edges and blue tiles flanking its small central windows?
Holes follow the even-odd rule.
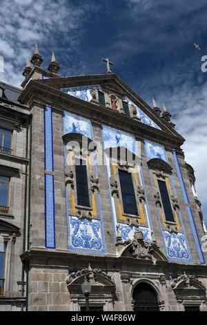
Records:
[[[92,90],[99,89],[108,93],[115,93],[121,100],[125,100],[129,105],[137,109],[137,123],[141,122],[158,131],[165,131],[184,142],[184,138],[175,131],[170,122],[166,122],[164,118],[157,115],[152,107],[144,102],[137,93],[132,91],[132,89],[114,73],[108,73],[106,75],[55,77],[38,81],[35,80],[35,82],[39,82],[42,85],[57,89],[67,95],[72,95],[80,100],[92,103],[95,103],[92,100]],[[23,94],[21,94],[20,97],[22,96]]]

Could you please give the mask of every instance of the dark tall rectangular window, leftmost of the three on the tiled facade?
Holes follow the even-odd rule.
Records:
[[[89,207],[88,177],[85,160],[75,160],[75,174],[77,186],[77,204]]]

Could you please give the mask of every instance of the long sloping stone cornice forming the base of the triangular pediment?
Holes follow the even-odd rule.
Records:
[[[35,90],[35,93],[34,93]],[[174,136],[168,131],[161,131],[134,120],[118,111],[108,109],[99,104],[92,104],[83,101],[77,97],[60,92],[57,89],[52,89],[49,86],[42,86],[38,81],[31,81],[26,90],[21,93],[21,100],[28,101],[30,109],[35,104],[38,106],[52,105],[53,111],[62,113],[63,111],[70,111],[70,113],[77,113],[92,120],[99,120],[102,124],[110,125],[110,127],[117,128],[148,140],[156,140],[159,143],[167,142],[171,149],[179,150],[183,144],[184,138]],[[61,103],[61,104],[60,104]],[[70,107],[70,109],[69,109]]]

